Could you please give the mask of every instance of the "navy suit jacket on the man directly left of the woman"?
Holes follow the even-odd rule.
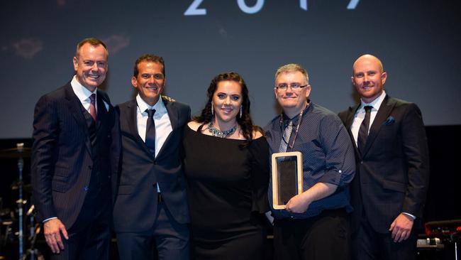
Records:
[[[181,141],[190,107],[162,99],[172,132],[154,158],[138,134],[136,100],[118,105],[122,135],[121,173],[113,210],[116,232],[143,232],[155,224],[157,183],[174,220],[189,222],[186,182],[182,169]]]

